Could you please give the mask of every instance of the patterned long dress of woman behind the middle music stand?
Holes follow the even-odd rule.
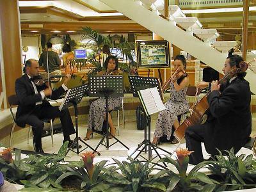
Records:
[[[104,74],[104,72],[99,74]],[[114,108],[122,105],[122,97],[109,97],[108,109],[111,111]],[[104,116],[106,114],[106,99],[100,97],[99,99],[92,102],[89,115],[88,115],[88,131],[92,129],[102,131],[102,125],[104,122]]]

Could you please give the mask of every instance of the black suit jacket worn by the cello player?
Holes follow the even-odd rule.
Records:
[[[216,148],[234,147],[238,152],[252,132],[248,81],[236,77],[228,86],[223,84],[221,90],[207,97],[210,113],[205,123],[205,149],[209,154],[218,154]]]

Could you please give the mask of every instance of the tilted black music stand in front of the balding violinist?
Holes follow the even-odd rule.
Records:
[[[61,103],[61,106],[59,107],[60,111],[62,109],[67,109],[70,106],[74,106],[74,110],[75,110],[75,117],[76,117],[76,138],[74,139],[72,145],[68,148],[66,155],[68,154],[68,152],[70,150],[72,150],[72,148],[74,148],[74,146],[77,145],[76,147],[76,151],[72,150],[72,152],[75,152],[77,155],[82,152],[83,150],[85,150],[86,148],[90,148],[92,149],[94,152],[96,152],[99,156],[100,153],[97,152],[95,149],[93,149],[92,147],[90,147],[90,145],[88,145],[87,143],[85,143],[83,140],[81,140],[81,138],[78,136],[78,109],[77,109],[77,104],[79,104],[79,102],[81,102],[84,92],[86,92],[86,90],[88,90],[88,85],[87,84],[83,84],[81,86],[77,86],[75,88],[72,88],[70,90],[68,90],[63,102]],[[86,145],[87,147],[82,149],[79,152],[79,141],[81,141],[82,143],[84,143],[84,145]]]

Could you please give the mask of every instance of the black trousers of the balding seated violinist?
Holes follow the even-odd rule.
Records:
[[[56,117],[60,117],[64,141],[70,140],[70,134],[76,133],[68,109],[60,111],[57,106],[36,106],[33,113],[31,113],[26,120],[26,124],[32,126],[36,148],[42,147],[42,131],[44,129],[42,119]]]

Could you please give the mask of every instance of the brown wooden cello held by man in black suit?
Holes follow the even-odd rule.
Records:
[[[235,74],[239,72],[245,72],[248,68],[248,65],[245,61],[241,61],[239,63],[238,68],[234,68],[233,70],[230,70],[225,76],[218,82],[218,84],[221,84],[225,81],[227,81],[228,78],[234,76]],[[193,105],[191,114],[180,126],[174,131],[173,135],[179,143],[184,142],[185,132],[188,129],[188,127],[196,124],[203,124],[204,120],[206,120],[205,112],[209,108],[209,104],[207,102],[207,96],[211,93],[211,90],[202,97],[196,104]]]

